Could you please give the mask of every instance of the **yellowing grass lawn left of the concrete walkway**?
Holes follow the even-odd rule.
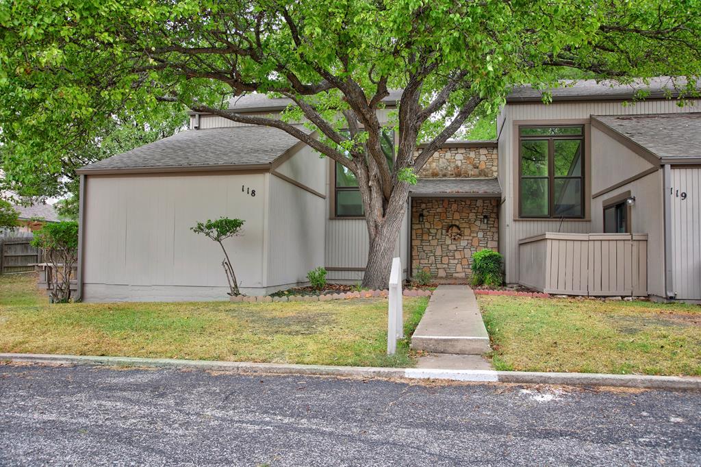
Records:
[[[0,276],[0,352],[321,365],[414,364],[386,356],[387,300],[48,304],[36,276]],[[428,299],[404,299],[414,332]]]

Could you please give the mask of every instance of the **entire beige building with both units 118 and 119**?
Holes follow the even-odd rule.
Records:
[[[633,88],[588,81],[553,90],[550,105],[529,88],[512,93],[498,142],[448,142],[418,174],[395,245],[405,275],[465,282],[472,254],[492,248],[508,283],[701,299],[701,133],[692,130],[701,107],[677,107],[664,84],[634,105],[624,103]],[[385,120],[397,97],[386,99]],[[274,114],[288,104],[249,95],[230,107]],[[394,144],[388,132],[388,157]],[[226,297],[217,245],[189,229],[222,215],[245,219],[229,244],[244,293],[306,283],[317,266],[334,282],[362,278],[367,230],[353,175],[280,130],[192,114],[189,130],[79,173],[86,301]]]

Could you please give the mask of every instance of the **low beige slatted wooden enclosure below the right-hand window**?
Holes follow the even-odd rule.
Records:
[[[555,234],[519,241],[519,283],[562,295],[648,295],[647,234]]]

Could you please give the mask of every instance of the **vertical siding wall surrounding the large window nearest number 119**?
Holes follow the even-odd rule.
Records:
[[[500,241],[501,250],[505,255],[506,280],[508,283],[519,281],[519,253],[518,241],[528,236],[543,234],[545,231],[588,233],[591,231],[590,222],[563,222],[555,221],[515,221],[517,206],[514,205],[514,194],[517,187],[513,184],[513,170],[517,165],[513,163],[514,147],[513,123],[526,120],[551,120],[555,125],[558,121],[566,119],[589,119],[591,115],[631,115],[631,114],[668,114],[678,112],[701,111],[698,101],[694,105],[678,107],[673,100],[637,102],[625,106],[622,102],[576,102],[553,103],[544,105],[538,102],[533,104],[509,104],[503,112],[503,130],[499,138],[499,157],[501,187],[505,203],[500,218],[503,219],[503,241]],[[501,159],[504,158],[505,163]],[[591,180],[590,180],[591,182]],[[645,232],[642,232],[645,233]]]

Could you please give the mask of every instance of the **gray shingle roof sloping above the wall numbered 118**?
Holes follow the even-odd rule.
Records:
[[[305,133],[311,130],[298,125]],[[299,140],[266,126],[184,130],[80,169],[186,168],[268,164]]]

